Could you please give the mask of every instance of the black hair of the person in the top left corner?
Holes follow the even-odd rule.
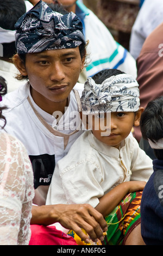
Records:
[[[26,4],[23,0],[0,0],[0,27],[14,31],[15,23],[24,13],[26,13]],[[15,41],[2,45],[3,57],[12,58],[16,53]]]

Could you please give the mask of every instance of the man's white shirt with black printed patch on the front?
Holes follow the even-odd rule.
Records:
[[[77,83],[74,89],[78,90],[81,96],[83,84]],[[20,139],[32,162],[35,185],[33,202],[37,205],[45,204],[55,164],[68,153],[83,130],[71,130],[71,127],[65,131],[54,130],[52,127],[54,117],[34,103],[30,95],[29,83],[5,95],[0,102],[0,106],[4,105],[8,107],[3,111],[7,120],[5,131]],[[69,119],[72,109],[79,111],[77,97],[73,90],[70,93],[64,120]],[[80,119],[79,116],[78,119]]]

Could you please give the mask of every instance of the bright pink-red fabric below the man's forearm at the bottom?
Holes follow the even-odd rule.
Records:
[[[30,225],[29,245],[77,245],[73,237],[54,226]]]

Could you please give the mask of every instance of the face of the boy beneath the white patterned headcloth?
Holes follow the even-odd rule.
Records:
[[[137,113],[134,112],[112,112],[110,113],[110,120],[109,122],[106,121],[106,117],[108,117],[105,114],[101,115],[95,115],[95,117],[92,118],[92,133],[93,135],[101,142],[115,147],[119,148],[121,142],[123,139],[125,139],[133,125],[137,126],[139,123],[137,123]],[[97,123],[99,122],[99,129],[97,129]],[[105,130],[103,128],[101,129],[102,124],[105,124]],[[108,123],[108,126],[106,124]]]

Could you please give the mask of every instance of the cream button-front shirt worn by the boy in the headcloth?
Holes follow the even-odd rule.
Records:
[[[119,150],[99,142],[91,131],[85,131],[55,166],[46,204],[88,203],[95,208],[98,198],[118,184],[147,181],[152,172],[152,160],[132,135]],[[54,225],[66,232],[59,223]]]

